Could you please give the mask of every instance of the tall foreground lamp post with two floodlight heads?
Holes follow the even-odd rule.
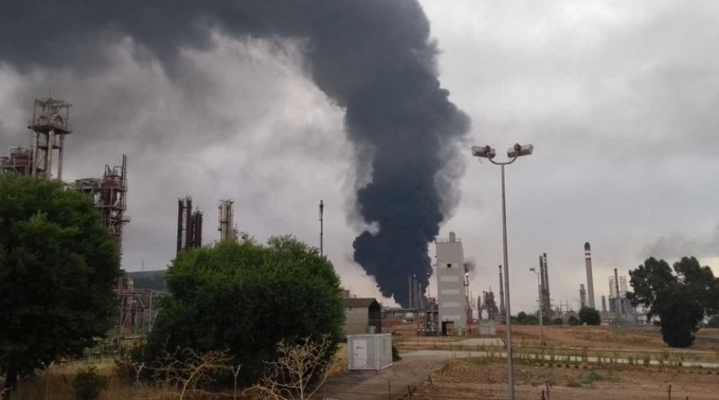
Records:
[[[507,150],[507,156],[510,158],[508,161],[498,163],[493,160],[497,153],[492,147],[489,146],[473,146],[472,156],[480,158],[486,158],[492,164],[502,166],[502,247],[504,250],[504,302],[506,303],[505,319],[507,325],[507,387],[509,400],[514,400],[514,356],[511,348],[511,310],[510,310],[510,263],[507,261],[507,205],[506,195],[504,191],[504,165],[508,165],[517,161],[520,156],[529,156],[532,154],[534,147],[532,145],[519,145],[516,144]]]

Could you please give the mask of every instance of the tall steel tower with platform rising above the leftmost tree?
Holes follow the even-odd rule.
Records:
[[[65,150],[65,137],[72,133],[70,129],[69,102],[53,99],[35,100],[32,118],[28,129],[32,130],[32,167],[31,175],[41,174],[52,178],[53,155],[58,150],[57,178],[62,180],[62,157]]]

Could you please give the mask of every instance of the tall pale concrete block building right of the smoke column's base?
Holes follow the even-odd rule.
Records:
[[[462,242],[449,232],[448,238],[437,239],[437,300],[441,333],[452,329],[466,330],[465,253]]]

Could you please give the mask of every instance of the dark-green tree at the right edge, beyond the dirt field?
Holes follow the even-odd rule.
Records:
[[[627,298],[644,306],[648,317],[660,317],[661,337],[670,347],[689,347],[699,323],[717,313],[719,279],[694,257],[682,257],[673,267],[675,274],[667,262],[650,258],[629,271],[634,292]]]

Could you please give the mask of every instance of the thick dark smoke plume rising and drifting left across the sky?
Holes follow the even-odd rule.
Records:
[[[0,61],[19,69],[102,70],[109,43],[133,40],[136,58],[159,60],[180,80],[182,49],[209,48],[213,31],[301,40],[307,73],[346,112],[358,172],[370,171],[357,211],[375,228],[355,240],[355,261],[400,304],[408,276],[427,286],[428,244],[457,204],[463,165],[453,160],[469,120],[440,87],[438,50],[416,1],[31,1],[2,9]]]

